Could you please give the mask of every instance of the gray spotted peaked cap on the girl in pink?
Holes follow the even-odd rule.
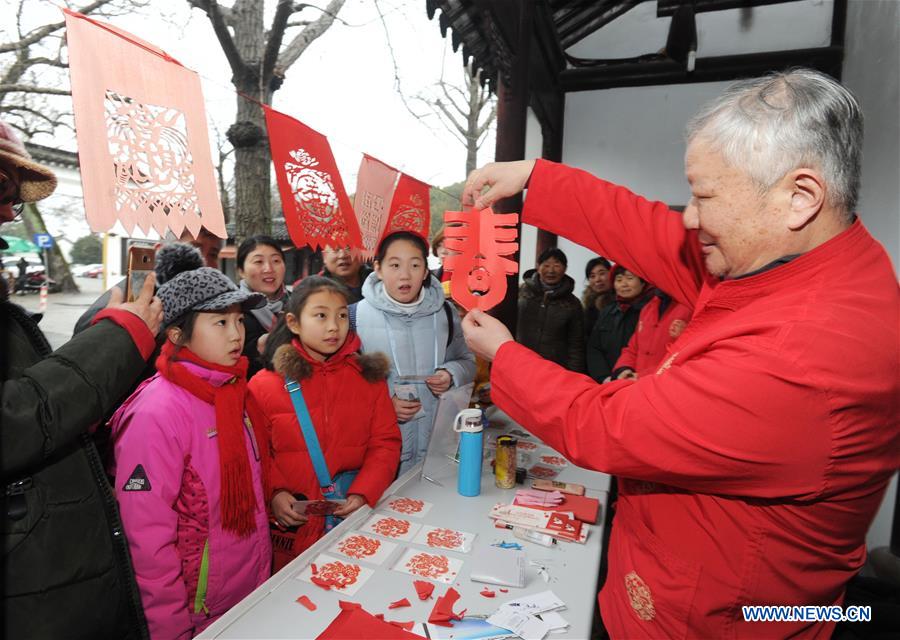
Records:
[[[241,291],[224,273],[212,267],[184,271],[156,292],[163,303],[163,327],[178,322],[189,311],[221,311],[233,304],[249,311],[266,304],[261,293]]]

